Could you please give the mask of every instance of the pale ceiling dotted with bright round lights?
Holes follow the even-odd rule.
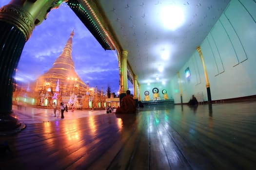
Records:
[[[210,32],[230,0],[98,0],[117,41],[128,51],[127,60],[138,83],[168,82]],[[177,6],[181,14],[163,15],[164,7]],[[175,11],[174,9],[169,9]],[[177,21],[182,21],[178,19]],[[162,58],[162,54],[168,57]],[[163,70],[159,71],[158,68]],[[156,80],[156,78],[159,80]]]

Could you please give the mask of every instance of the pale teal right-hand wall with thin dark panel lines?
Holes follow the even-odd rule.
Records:
[[[200,44],[206,65],[212,100],[256,95],[256,2],[231,0],[211,32]],[[186,68],[191,77],[184,77]],[[207,101],[206,81],[197,50],[180,73],[183,102],[192,94],[203,93]],[[178,77],[170,82],[170,94],[180,103]],[[141,92],[142,93],[142,92]]]

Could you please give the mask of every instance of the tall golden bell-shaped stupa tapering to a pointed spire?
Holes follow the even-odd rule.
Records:
[[[73,35],[74,30],[70,34],[62,53],[55,60],[53,67],[36,80],[36,92],[42,95],[56,93],[62,97],[81,97],[85,93],[86,84],[76,73],[71,55]]]

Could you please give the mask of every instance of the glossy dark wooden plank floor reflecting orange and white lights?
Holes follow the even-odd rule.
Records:
[[[150,105],[0,136],[0,170],[255,170],[256,102]]]

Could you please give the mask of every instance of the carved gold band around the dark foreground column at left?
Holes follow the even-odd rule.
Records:
[[[0,20],[15,25],[25,35],[26,41],[31,36],[35,24],[31,14],[14,4],[0,8]]]

